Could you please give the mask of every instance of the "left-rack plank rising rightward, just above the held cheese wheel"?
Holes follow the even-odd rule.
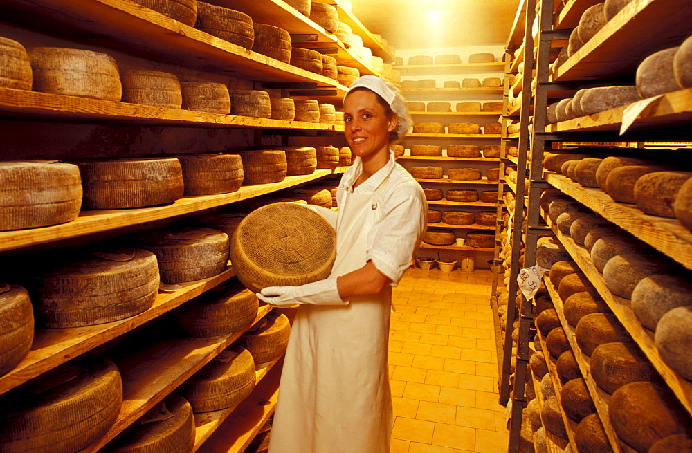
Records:
[[[230,194],[188,196],[174,201],[169,205],[140,207],[127,210],[82,211],[80,216],[60,225],[0,232],[0,250],[11,250],[41,243],[80,237],[86,234],[115,230],[138,223],[167,219],[190,212],[197,212],[246,200],[255,196],[270,194],[280,189],[286,189],[301,183],[314,181],[322,176],[332,174],[330,169],[316,170],[306,176],[286,176],[280,183],[246,185],[237,192]]]

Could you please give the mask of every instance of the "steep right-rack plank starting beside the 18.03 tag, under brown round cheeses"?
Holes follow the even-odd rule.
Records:
[[[570,326],[570,324],[567,323],[567,320],[565,320],[564,304],[560,298],[560,295],[558,295],[557,288],[553,286],[550,278],[547,275],[543,276],[543,280],[545,281],[545,287],[550,294],[550,298],[553,301],[553,306],[555,307],[555,311],[560,319],[560,324],[562,324],[563,330],[565,331],[567,341],[570,342],[570,346],[572,346],[574,359],[576,360],[577,365],[579,365],[581,375],[586,382],[586,387],[589,389],[591,399],[594,401],[596,412],[599,414],[599,418],[603,424],[603,429],[605,429],[605,434],[608,436],[610,446],[612,447],[614,453],[622,453],[623,449],[614,429],[612,428],[612,425],[610,424],[610,416],[608,415],[608,403],[610,402],[610,395],[599,389],[596,382],[594,382],[594,378],[591,376],[589,367],[590,359],[581,352],[579,344],[576,343],[576,336],[574,333],[576,329]]]

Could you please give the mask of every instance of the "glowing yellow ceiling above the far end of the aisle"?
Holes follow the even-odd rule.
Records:
[[[351,0],[352,12],[397,49],[504,45],[519,0]]]

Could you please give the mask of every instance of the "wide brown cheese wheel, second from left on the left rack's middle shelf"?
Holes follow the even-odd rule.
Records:
[[[176,158],[129,158],[77,163],[84,207],[125,209],[171,203],[183,196],[183,170]]]

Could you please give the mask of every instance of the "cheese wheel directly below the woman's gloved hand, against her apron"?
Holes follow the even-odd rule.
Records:
[[[286,352],[291,326],[289,318],[270,312],[238,339],[238,344],[248,349],[255,364],[271,362]]]

